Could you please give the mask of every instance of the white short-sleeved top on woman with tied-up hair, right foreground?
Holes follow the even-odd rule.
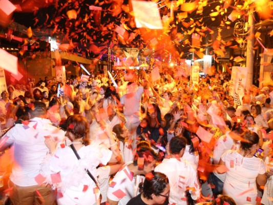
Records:
[[[265,173],[263,160],[255,156],[243,157],[234,150],[226,151],[221,159],[229,170],[226,172],[223,194],[232,197],[237,204],[256,204],[256,178]]]

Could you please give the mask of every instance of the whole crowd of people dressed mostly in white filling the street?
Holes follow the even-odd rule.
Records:
[[[113,74],[1,93],[13,204],[273,204],[270,85],[238,105],[225,72]]]

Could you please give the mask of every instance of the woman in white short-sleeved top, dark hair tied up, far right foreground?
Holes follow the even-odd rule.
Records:
[[[266,183],[265,166],[262,159],[254,156],[259,148],[259,136],[255,132],[242,134],[241,149],[226,151],[219,162],[228,171],[223,194],[232,197],[238,205],[256,204],[257,186]]]

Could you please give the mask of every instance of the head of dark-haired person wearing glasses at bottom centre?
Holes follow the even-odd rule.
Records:
[[[153,200],[154,204],[163,204],[170,194],[169,179],[160,172],[152,172],[143,183],[143,197]]]

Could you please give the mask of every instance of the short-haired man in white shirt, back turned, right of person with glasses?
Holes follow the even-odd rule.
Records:
[[[200,186],[197,171],[193,165],[182,159],[185,151],[186,139],[173,137],[169,142],[169,154],[171,158],[163,159],[156,168],[156,172],[165,174],[170,183],[169,203],[186,205],[186,190],[190,190],[193,200],[200,197]]]

